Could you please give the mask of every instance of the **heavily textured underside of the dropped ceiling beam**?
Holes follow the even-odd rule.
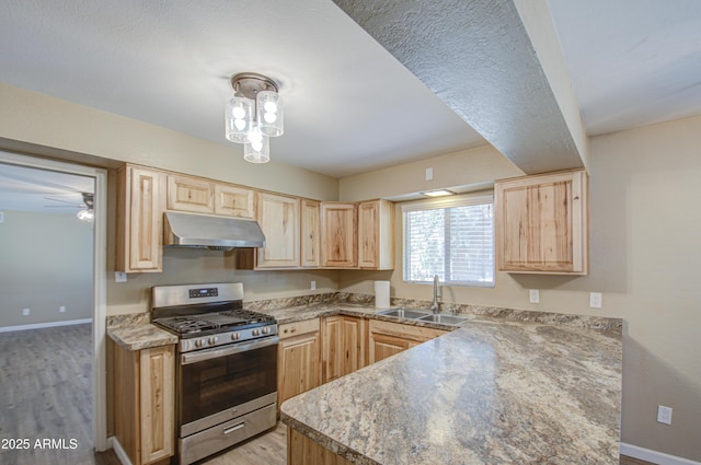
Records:
[[[545,47],[537,48],[515,2],[334,1],[526,173],[584,165],[586,153],[577,150],[541,63]],[[526,4],[531,10],[540,4],[542,16],[549,14],[544,0]],[[552,30],[552,22],[538,27]],[[575,118],[581,128],[578,113]]]

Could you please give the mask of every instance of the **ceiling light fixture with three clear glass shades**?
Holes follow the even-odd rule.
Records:
[[[227,139],[243,143],[243,158],[251,163],[271,161],[269,140],[285,132],[285,115],[278,85],[256,72],[231,77],[233,97],[227,100]]]

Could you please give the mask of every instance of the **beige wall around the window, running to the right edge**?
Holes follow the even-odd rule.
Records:
[[[499,272],[494,289],[448,288],[444,299],[624,318],[622,441],[693,461],[701,461],[699,133],[696,117],[591,139],[588,276]],[[457,162],[447,171],[463,168]],[[361,191],[344,190],[342,179],[342,198],[403,194],[406,172],[382,170],[376,190],[377,172],[353,178]],[[398,252],[395,271],[342,274],[340,290],[372,293],[372,280],[390,279],[393,297],[430,300],[429,287],[402,282]],[[540,289],[540,304],[528,302],[528,289]],[[602,309],[588,307],[591,291],[604,293]],[[657,405],[674,408],[671,426],[655,421]]]

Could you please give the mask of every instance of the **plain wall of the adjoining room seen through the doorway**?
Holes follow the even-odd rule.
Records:
[[[0,327],[92,318],[92,224],[67,214],[3,212]]]

